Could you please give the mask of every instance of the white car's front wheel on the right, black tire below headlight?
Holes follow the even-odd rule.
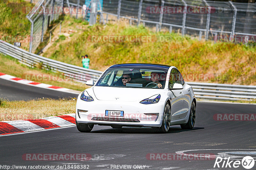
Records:
[[[160,128],[156,128],[156,132],[167,133],[170,129],[170,123],[171,123],[171,108],[169,103],[165,103],[162,125]]]

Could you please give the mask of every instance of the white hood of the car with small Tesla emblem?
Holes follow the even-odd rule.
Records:
[[[141,101],[156,94],[163,89],[140,89],[140,88],[118,88],[94,86],[93,92],[98,100],[108,101]]]

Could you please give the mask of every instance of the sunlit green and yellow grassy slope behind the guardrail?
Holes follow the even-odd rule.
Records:
[[[75,23],[72,18],[65,19]],[[76,27],[70,26],[73,29]],[[135,43],[91,42],[92,35],[148,35],[158,39],[165,36],[168,39]],[[207,80],[195,78],[187,81],[256,85],[256,47],[253,45],[214,44],[212,41],[199,41],[177,33],[154,32],[143,25],[129,26],[123,21],[87,26],[72,34],[72,39],[50,47],[44,56],[81,66],[81,55],[84,54],[89,54],[90,68],[101,71],[117,63],[158,63],[177,67],[184,77],[191,74],[210,75]]]

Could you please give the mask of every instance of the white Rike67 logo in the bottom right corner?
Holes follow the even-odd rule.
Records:
[[[242,165],[245,169],[251,169],[254,166],[254,163],[254,159],[251,156],[245,156],[242,160],[236,161],[230,160],[230,157],[217,157],[213,167],[238,168]]]

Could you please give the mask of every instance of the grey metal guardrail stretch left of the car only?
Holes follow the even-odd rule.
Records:
[[[60,61],[48,59],[34,53],[29,53],[28,51],[25,51],[4,41],[0,41],[0,53],[16,58],[22,64],[25,64],[29,67],[40,66],[46,70],[64,73],[65,76],[81,82],[85,82],[91,79],[96,81],[102,73],[98,70],[74,66]]]

